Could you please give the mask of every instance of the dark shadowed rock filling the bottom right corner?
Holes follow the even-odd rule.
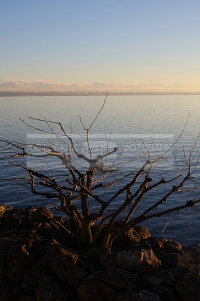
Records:
[[[200,299],[200,268],[196,266],[189,271],[176,285],[176,291],[182,301],[198,301]]]

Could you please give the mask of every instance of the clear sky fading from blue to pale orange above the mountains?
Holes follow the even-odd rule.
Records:
[[[0,0],[0,82],[200,91],[198,0]]]

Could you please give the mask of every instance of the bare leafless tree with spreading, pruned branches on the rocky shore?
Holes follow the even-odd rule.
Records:
[[[34,125],[20,119],[31,130],[46,134],[45,143],[26,143],[27,141],[25,142],[21,138],[19,141],[0,139],[0,160],[7,160],[11,166],[14,165],[24,170],[23,177],[10,180],[17,180],[19,185],[30,189],[34,195],[44,196],[54,201],[59,200],[59,205],[54,204],[55,209],[66,214],[72,225],[64,230],[68,235],[75,236],[80,245],[85,248],[97,244],[102,229],[105,234],[101,245],[110,247],[117,236],[136,224],[171,212],[178,212],[186,207],[195,209],[195,204],[200,200],[198,192],[194,195],[194,191],[199,189],[199,179],[194,177],[199,160],[199,152],[195,149],[199,136],[188,156],[184,149],[182,150],[181,162],[177,162],[175,151],[172,150],[181,137],[187,122],[180,136],[170,146],[177,169],[176,175],[171,178],[167,178],[167,174],[165,175],[163,171],[156,170],[157,164],[167,162],[166,152],[158,156],[151,156],[148,149],[139,153],[136,159],[130,158],[131,162],[139,159],[141,165],[132,168],[129,173],[120,173],[123,164],[118,164],[118,158],[120,158],[123,148],[120,152],[117,147],[110,149],[110,137],[105,136],[107,147],[104,153],[93,152],[90,132],[105,105],[106,98],[107,95],[89,126],[85,126],[79,117],[85,133],[83,138],[86,141],[87,152],[83,152],[83,149],[77,147],[71,129],[70,132],[67,132],[60,122],[45,118],[28,117],[34,122]],[[37,122],[39,126],[35,126]],[[45,129],[41,123],[46,126]],[[116,155],[114,160],[109,161],[108,158],[113,154]],[[56,175],[46,171],[45,166],[42,169],[36,166],[29,167],[24,160],[27,158],[37,158],[41,162],[46,158],[56,159],[56,162],[61,162],[66,172]],[[154,169],[155,178],[159,177],[158,181],[155,181],[152,176]],[[188,183],[187,187],[186,183]],[[120,186],[118,186],[119,184]],[[111,190],[108,194],[109,189]],[[162,194],[158,198],[160,190]],[[157,193],[156,200],[154,202],[151,200],[150,205],[142,213],[135,214],[144,196],[150,196],[152,191]],[[177,204],[175,198],[184,192],[189,193],[186,202],[182,201]],[[174,206],[160,210],[159,208],[172,195],[174,195]],[[117,202],[117,206],[113,207],[114,202]],[[122,226],[116,227],[115,221],[121,214],[123,214]]]

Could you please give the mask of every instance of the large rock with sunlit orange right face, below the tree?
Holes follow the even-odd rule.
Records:
[[[101,256],[100,263],[104,268],[117,267],[127,271],[152,270],[160,266],[160,261],[152,249],[142,251],[117,251],[110,255]]]

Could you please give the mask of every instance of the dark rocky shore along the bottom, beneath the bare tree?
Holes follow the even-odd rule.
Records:
[[[0,206],[0,301],[198,301],[200,245],[130,229],[80,252],[46,208]]]

